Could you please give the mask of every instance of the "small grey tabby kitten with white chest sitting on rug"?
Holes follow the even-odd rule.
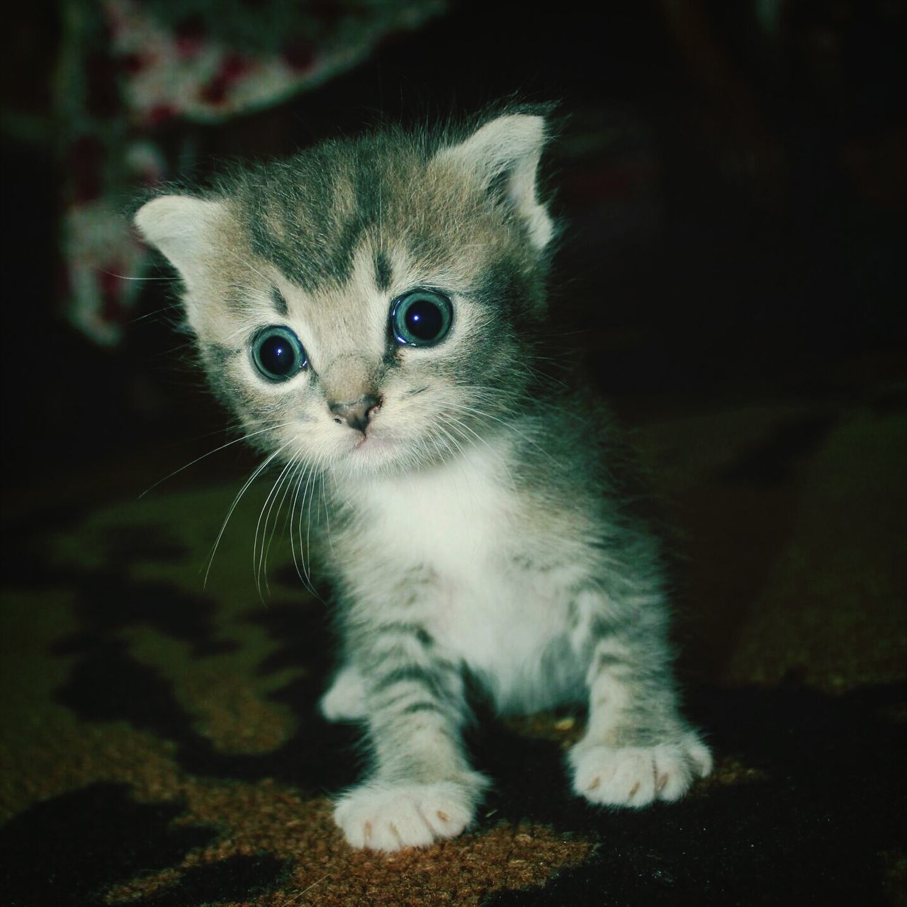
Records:
[[[502,713],[586,701],[590,803],[677,800],[711,757],[678,714],[658,543],[611,478],[608,421],[539,379],[554,232],[543,117],[332,141],[136,215],[184,284],[219,397],[317,501],[342,663],[321,702],[370,775],[356,847],[459,834],[488,780],[467,678]]]

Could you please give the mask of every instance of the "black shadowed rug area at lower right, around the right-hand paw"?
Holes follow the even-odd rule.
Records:
[[[502,731],[480,764],[497,785],[483,813],[550,824],[598,842],[590,861],[542,891],[502,892],[487,907],[886,902],[881,853],[907,838],[907,726],[886,717],[902,685],[826,696],[709,689],[694,703],[718,756],[757,779],[640,812],[598,810],[567,792],[561,752]]]

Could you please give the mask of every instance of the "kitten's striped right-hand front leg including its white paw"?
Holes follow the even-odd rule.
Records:
[[[677,800],[712,757],[678,712],[660,594],[637,591],[616,609],[590,591],[577,611],[591,660],[589,725],[569,755],[574,792],[613,806]]]

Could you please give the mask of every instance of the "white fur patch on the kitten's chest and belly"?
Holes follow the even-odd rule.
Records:
[[[546,543],[502,460],[473,450],[434,471],[374,483],[366,495],[369,534],[385,563],[433,577],[415,607],[439,645],[482,676],[501,707],[545,705],[541,689],[554,679],[541,676],[551,671],[546,653],[565,644],[580,568],[533,563],[530,552],[559,540]]]

